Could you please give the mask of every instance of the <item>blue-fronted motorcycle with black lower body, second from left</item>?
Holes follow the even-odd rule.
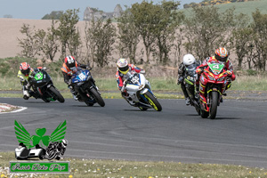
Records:
[[[93,106],[98,103],[101,107],[105,102],[101,98],[101,93],[95,85],[93,77],[88,69],[77,68],[77,72],[72,76],[72,84],[77,92],[78,101],[84,101],[87,106]]]

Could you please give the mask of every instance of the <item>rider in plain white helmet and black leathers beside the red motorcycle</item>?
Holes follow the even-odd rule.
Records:
[[[184,95],[186,105],[190,105],[190,98],[186,91],[185,85],[183,83],[183,79],[184,79],[186,68],[194,64],[197,64],[199,66],[200,62],[196,61],[195,57],[192,54],[187,53],[183,56],[182,63],[179,65],[179,69],[178,69],[177,85],[181,85],[182,93]]]

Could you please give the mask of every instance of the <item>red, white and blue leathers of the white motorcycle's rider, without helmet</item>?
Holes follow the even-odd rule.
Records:
[[[129,66],[129,71],[135,71],[136,73],[144,73],[143,69],[137,68],[134,64],[128,64]],[[122,87],[124,86],[124,81],[125,79],[128,79],[128,76],[126,74],[121,73],[118,69],[116,72],[116,79],[117,79],[117,87],[119,90],[122,89]],[[128,93],[126,93],[126,91],[121,91],[122,92],[122,96],[126,97],[128,95]]]

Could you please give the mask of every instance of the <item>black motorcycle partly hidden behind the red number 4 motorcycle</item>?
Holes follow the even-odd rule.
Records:
[[[190,105],[194,106],[195,109],[198,112],[198,115],[200,115],[200,103],[198,100],[198,94],[196,93],[196,68],[198,67],[198,64],[191,64],[188,67],[185,67],[185,74],[183,79],[183,84],[185,85],[186,92],[189,95],[190,98]]]

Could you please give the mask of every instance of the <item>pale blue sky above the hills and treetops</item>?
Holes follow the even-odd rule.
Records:
[[[161,1],[154,0],[153,2]],[[199,3],[201,1],[183,0],[181,4]],[[82,20],[87,6],[98,8],[104,12],[113,12],[116,4],[121,4],[124,7],[124,5],[130,6],[134,3],[142,3],[142,0],[0,0],[0,18],[3,18],[4,15],[12,15],[13,19],[39,20],[45,14],[53,11],[79,8],[79,17]],[[180,8],[182,8],[182,5],[180,5]]]

